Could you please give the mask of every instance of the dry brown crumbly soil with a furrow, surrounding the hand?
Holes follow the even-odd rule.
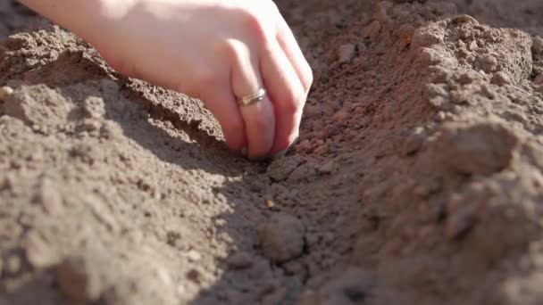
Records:
[[[0,304],[543,302],[541,1],[278,4],[315,82],[263,162],[0,4]]]

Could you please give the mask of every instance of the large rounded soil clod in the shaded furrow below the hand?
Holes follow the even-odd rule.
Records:
[[[263,254],[278,263],[296,259],[304,251],[304,235],[305,227],[300,219],[284,213],[275,214],[260,232]]]

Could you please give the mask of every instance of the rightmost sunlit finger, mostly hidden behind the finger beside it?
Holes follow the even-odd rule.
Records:
[[[288,27],[287,21],[280,14],[277,24],[277,41],[283,52],[287,55],[288,61],[292,64],[294,70],[296,70],[297,76],[302,86],[304,86],[305,97],[307,97],[313,84],[313,71],[309,63],[305,60],[305,56],[297,44],[292,30]]]

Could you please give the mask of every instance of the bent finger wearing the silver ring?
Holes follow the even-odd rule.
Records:
[[[239,98],[255,95],[263,88],[263,80],[255,52],[241,42],[230,42],[234,59],[231,72],[231,87]],[[246,152],[249,158],[262,158],[272,150],[275,138],[275,114],[272,102],[266,95],[261,102],[239,106],[245,122]]]

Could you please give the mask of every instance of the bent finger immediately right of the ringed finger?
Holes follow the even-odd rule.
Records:
[[[277,42],[263,50],[261,69],[275,110],[275,139],[271,154],[276,154],[288,149],[297,139],[306,90]]]

